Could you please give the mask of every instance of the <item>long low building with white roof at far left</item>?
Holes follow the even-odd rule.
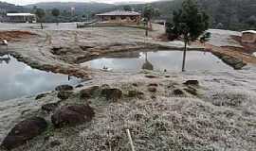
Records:
[[[10,23],[36,23],[36,15],[31,13],[7,13],[5,21]]]

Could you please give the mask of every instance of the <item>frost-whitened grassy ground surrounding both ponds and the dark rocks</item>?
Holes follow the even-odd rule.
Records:
[[[131,129],[137,150],[256,150],[254,66],[233,72],[153,72],[151,74],[157,76],[154,79],[145,77],[144,73],[93,71],[82,68],[78,63],[109,52],[181,49],[183,43],[157,40],[156,37],[164,31],[159,25],[150,32],[149,38],[144,37],[143,30],[128,27],[76,29],[75,24],[47,24],[46,30],[37,27],[0,24],[2,31],[24,30],[33,33],[24,39],[9,41],[9,51],[17,59],[35,68],[92,78],[83,83],[84,87],[109,84],[126,93],[134,89],[144,92],[144,98],[124,96],[118,103],[102,98],[89,100],[97,112],[91,123],[49,129],[16,150],[130,150],[123,130],[125,128]],[[211,31],[213,37],[208,44],[212,47],[241,47],[239,42],[230,38],[239,33]],[[191,48],[200,49],[202,46],[192,45]],[[185,92],[184,96],[174,95],[174,89],[186,89],[182,83],[187,79],[199,80],[200,87],[196,88],[198,94]],[[152,82],[158,84],[155,93],[147,91],[147,85]],[[133,83],[137,83],[138,87],[132,87]],[[74,96],[62,102],[62,105],[81,103],[81,89],[76,89]],[[31,115],[48,117],[42,114],[41,106],[60,101],[56,95],[56,92],[49,92],[40,100],[27,96],[1,102],[0,142],[19,121]],[[137,120],[137,114],[143,118]],[[48,136],[50,139],[46,140]],[[52,140],[58,140],[61,144],[50,147]]]

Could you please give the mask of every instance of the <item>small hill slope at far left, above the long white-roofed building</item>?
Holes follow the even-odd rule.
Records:
[[[28,9],[20,6],[15,6],[6,2],[0,2],[0,13],[6,12],[26,12]]]

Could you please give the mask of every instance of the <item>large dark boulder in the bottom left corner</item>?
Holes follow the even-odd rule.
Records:
[[[40,135],[46,130],[44,118],[32,117],[14,126],[1,144],[6,149],[12,149],[27,143],[28,140]]]

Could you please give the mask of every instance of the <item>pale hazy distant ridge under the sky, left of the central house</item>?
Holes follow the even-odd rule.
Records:
[[[113,8],[114,5],[105,4],[105,3],[76,3],[76,2],[50,2],[50,3],[37,3],[33,5],[27,5],[26,8],[44,8],[44,9],[52,9],[58,8],[60,10],[70,10],[71,8],[75,8],[77,13],[82,12],[98,12],[101,9]]]

